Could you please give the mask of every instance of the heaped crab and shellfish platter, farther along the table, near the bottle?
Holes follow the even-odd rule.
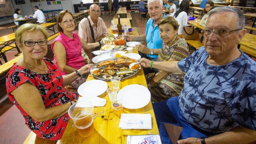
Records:
[[[125,51],[126,50],[126,40],[125,37],[123,37],[122,35],[119,35],[117,37],[115,37],[114,35],[110,34],[107,35],[104,39],[103,42],[105,45],[108,46],[108,48],[110,49],[110,46],[114,46],[113,48],[115,49],[119,49],[120,51]],[[103,48],[103,47],[102,47]],[[108,49],[108,50],[109,50]],[[105,50],[105,49],[104,49]],[[110,49],[111,50],[111,49]]]

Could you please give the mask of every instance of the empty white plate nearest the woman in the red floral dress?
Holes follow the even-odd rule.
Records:
[[[97,97],[108,89],[108,84],[102,80],[91,80],[81,84],[77,89],[79,95],[83,97]]]

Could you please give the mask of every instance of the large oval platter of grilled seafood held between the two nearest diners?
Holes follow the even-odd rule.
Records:
[[[112,77],[116,76],[121,79],[132,77],[140,69],[141,65],[136,63],[135,59],[121,56],[120,58],[110,58],[96,63],[90,72],[96,79],[110,81]]]

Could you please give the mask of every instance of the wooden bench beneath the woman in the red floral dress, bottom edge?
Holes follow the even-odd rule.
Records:
[[[56,144],[57,141],[51,141],[44,138],[39,138],[33,131],[29,134],[23,144]]]

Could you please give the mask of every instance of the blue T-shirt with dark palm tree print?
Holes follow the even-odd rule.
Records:
[[[256,63],[243,54],[234,61],[213,66],[205,47],[178,62],[186,72],[179,95],[183,117],[212,133],[241,125],[256,130]]]

